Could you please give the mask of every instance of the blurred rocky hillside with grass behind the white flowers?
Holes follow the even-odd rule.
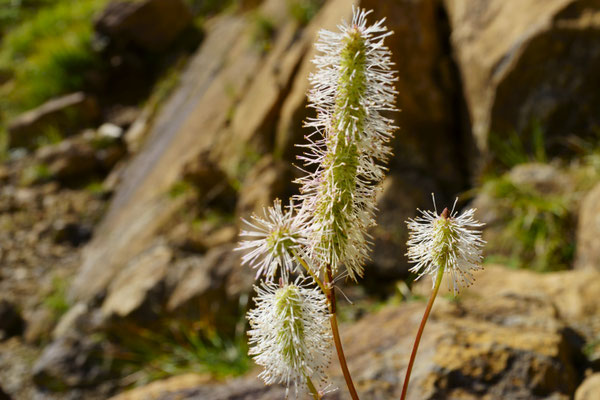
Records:
[[[297,191],[313,42],[352,5],[395,32],[402,110],[340,282],[359,392],[399,397],[430,288],[404,221],[434,192],[478,208],[486,268],[436,303],[409,398],[599,398],[599,1],[0,0],[0,399],[284,397],[233,248]]]

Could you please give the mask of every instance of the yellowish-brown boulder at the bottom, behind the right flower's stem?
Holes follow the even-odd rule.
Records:
[[[487,267],[477,278],[478,282],[457,301],[443,296],[436,301],[408,398],[572,398],[586,367],[582,346],[598,332],[600,308],[593,295],[600,290],[598,272],[538,275],[495,266]],[[416,292],[428,295],[430,284],[423,282]],[[388,306],[342,327],[349,368],[361,397],[399,397],[424,308],[423,302]],[[340,389],[327,398],[349,398],[337,362],[331,372],[334,385]],[[170,384],[174,389],[165,384],[162,393],[152,393],[161,400],[278,399],[284,395],[283,388],[264,387],[255,376],[252,372],[247,378],[225,384],[198,386],[192,382],[187,387],[182,387],[183,378],[182,385],[175,385],[173,378]],[[577,389],[577,396],[588,393],[594,382],[594,376],[588,378]]]

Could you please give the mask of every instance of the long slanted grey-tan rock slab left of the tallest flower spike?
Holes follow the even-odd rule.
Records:
[[[267,5],[288,15],[285,2],[269,0],[260,10]],[[245,93],[262,66],[262,54],[239,40],[250,29],[244,18],[232,15],[217,18],[207,27],[179,88],[153,121],[143,150],[127,165],[111,206],[83,254],[71,287],[77,300],[89,301],[105,292],[119,271],[173,221],[185,201],[183,196],[172,198],[168,193],[185,166],[205,152],[212,154],[217,142],[230,147],[234,143],[224,135],[228,110],[236,106],[237,95]],[[294,41],[293,36],[275,40],[279,38]],[[227,155],[211,161],[223,168],[221,162],[229,161]]]

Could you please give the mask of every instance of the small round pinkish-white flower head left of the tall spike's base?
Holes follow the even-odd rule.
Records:
[[[279,199],[263,209],[263,217],[253,214],[244,219],[246,229],[240,232],[242,240],[236,248],[245,252],[242,264],[255,268],[257,278],[264,275],[272,280],[280,269],[287,277],[294,269],[294,251],[302,251],[307,244],[304,219],[291,201],[284,209]]]

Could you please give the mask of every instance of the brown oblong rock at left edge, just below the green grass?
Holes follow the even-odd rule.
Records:
[[[91,125],[99,113],[96,100],[82,92],[52,99],[10,122],[10,147],[32,148],[35,139],[49,129],[57,129],[63,135],[72,134]]]

